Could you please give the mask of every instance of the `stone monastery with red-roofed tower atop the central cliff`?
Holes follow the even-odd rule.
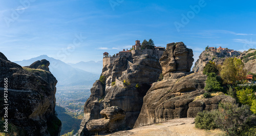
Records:
[[[163,55],[163,52],[165,51],[164,47],[155,47],[153,49],[141,49],[141,43],[139,40],[135,41],[135,45],[132,47],[132,50],[123,49],[123,51],[120,51],[119,53],[111,56],[109,53],[104,52],[103,53],[103,67],[107,64],[113,63],[116,59],[119,57],[132,57],[132,56],[138,56],[142,54],[150,54],[155,55],[158,59]]]

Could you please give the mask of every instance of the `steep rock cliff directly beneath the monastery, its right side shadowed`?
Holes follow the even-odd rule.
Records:
[[[133,127],[139,116],[143,97],[161,73],[161,65],[156,56],[139,55],[130,58],[120,57],[114,63],[102,69],[99,80],[91,88],[91,96],[84,104],[84,117],[79,135],[86,135],[86,124],[93,119],[100,119],[100,111],[111,106],[118,106],[125,111],[125,122]],[[123,83],[125,81],[125,83]]]

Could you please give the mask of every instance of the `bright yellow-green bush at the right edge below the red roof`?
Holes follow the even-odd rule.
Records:
[[[251,106],[256,96],[253,93],[253,89],[246,88],[246,89],[238,90],[237,97],[240,103]]]

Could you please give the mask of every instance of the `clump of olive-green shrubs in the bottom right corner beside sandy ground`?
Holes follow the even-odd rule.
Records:
[[[200,129],[220,128],[227,135],[250,135],[256,133],[255,121],[256,117],[249,106],[220,103],[218,110],[199,112],[195,125]]]

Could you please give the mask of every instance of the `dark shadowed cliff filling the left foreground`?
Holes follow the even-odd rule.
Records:
[[[47,69],[49,61],[41,62],[47,63],[42,65]],[[57,80],[49,68],[48,71],[38,66],[31,68],[9,61],[0,52],[1,96],[4,96],[4,79],[8,78],[8,124],[12,126],[8,130],[15,128],[18,135],[59,135],[61,122],[54,112]]]

